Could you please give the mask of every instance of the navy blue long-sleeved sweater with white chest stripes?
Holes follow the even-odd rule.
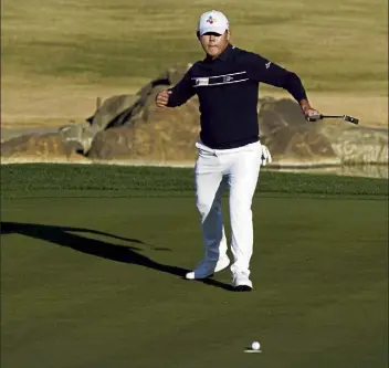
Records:
[[[200,102],[200,138],[214,149],[241,147],[259,140],[259,83],[285,88],[301,102],[306,98],[298,76],[259,54],[231,44],[219,57],[195,63],[170,91],[168,106]]]

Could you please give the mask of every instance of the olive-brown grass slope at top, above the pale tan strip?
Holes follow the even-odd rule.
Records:
[[[309,91],[387,95],[387,2],[225,0],[233,42],[297,72]],[[2,73],[116,84],[202,57],[203,0],[6,0]],[[123,80],[120,82],[120,80]],[[14,82],[14,81],[13,81]]]

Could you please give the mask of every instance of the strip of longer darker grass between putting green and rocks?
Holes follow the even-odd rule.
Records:
[[[25,164],[1,167],[3,197],[182,197],[193,196],[189,168]],[[385,179],[294,175],[262,170],[256,193],[388,197]]]

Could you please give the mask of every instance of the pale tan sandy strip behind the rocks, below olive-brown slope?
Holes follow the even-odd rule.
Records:
[[[2,85],[2,129],[57,127],[83,122],[96,107],[96,98],[113,95],[134,94],[148,81],[128,85],[72,85],[61,81],[42,81],[42,84],[12,83]],[[123,81],[120,81],[123,82]],[[285,97],[286,92],[266,87],[262,96]],[[309,93],[312,104],[324,114],[347,114],[356,116],[364,125],[388,125],[388,97],[362,94]],[[7,134],[7,132],[4,133]]]

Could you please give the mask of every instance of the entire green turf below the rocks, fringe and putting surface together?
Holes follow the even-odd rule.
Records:
[[[385,180],[263,172],[234,293],[228,270],[181,277],[202,256],[190,170],[59,172],[2,167],[2,367],[388,366]]]

